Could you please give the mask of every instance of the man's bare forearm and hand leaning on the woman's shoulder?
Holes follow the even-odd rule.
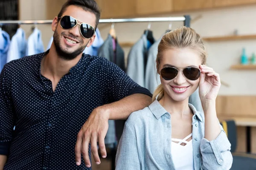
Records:
[[[145,94],[132,94],[117,102],[94,109],[77,135],[76,164],[81,164],[82,153],[86,167],[91,166],[88,154],[89,143],[91,143],[94,161],[96,164],[100,164],[97,141],[101,155],[105,158],[107,153],[104,139],[108,131],[108,120],[127,119],[132,112],[150,105],[151,100],[152,98]]]

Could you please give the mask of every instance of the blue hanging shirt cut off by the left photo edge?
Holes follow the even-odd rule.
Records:
[[[6,31],[0,31],[0,72],[6,64],[7,52],[10,45],[10,36]]]

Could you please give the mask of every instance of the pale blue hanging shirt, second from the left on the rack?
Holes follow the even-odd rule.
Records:
[[[18,28],[16,34],[12,37],[6,62],[26,56],[26,46],[27,41],[25,31],[22,28]]]

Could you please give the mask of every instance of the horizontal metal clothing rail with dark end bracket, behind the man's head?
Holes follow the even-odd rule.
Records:
[[[131,23],[131,22],[164,22],[164,21],[183,21],[184,26],[190,27],[190,16],[183,17],[144,17],[144,18],[124,18],[124,19],[100,19],[99,23]],[[52,20],[0,20],[1,25],[8,24],[51,24]]]

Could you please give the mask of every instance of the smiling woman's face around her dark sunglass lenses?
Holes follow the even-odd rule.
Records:
[[[179,70],[177,76],[171,80],[163,79],[160,74],[165,96],[168,95],[175,101],[187,99],[198,88],[200,78],[189,80],[183,75],[182,69],[191,66],[199,68],[201,62],[200,54],[190,48],[175,48],[164,51],[158,73],[160,74],[161,69],[165,67],[175,67]]]

